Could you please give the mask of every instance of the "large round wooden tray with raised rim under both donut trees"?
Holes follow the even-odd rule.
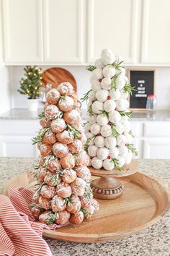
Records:
[[[95,178],[94,178],[95,179]],[[124,176],[125,193],[116,200],[98,200],[100,209],[79,226],[68,225],[56,231],[44,229],[43,235],[68,242],[106,242],[130,236],[162,218],[170,208],[170,194],[160,180],[139,172]],[[32,187],[33,171],[21,174],[10,185]]]

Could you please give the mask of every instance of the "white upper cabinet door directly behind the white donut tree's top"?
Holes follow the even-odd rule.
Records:
[[[131,64],[137,58],[139,1],[88,1],[88,61],[110,48]]]

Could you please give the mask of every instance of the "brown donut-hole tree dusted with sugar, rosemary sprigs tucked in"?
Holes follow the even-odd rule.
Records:
[[[42,129],[32,139],[40,159],[31,210],[35,219],[49,225],[80,224],[99,210],[90,188],[89,156],[84,150],[86,136],[77,98],[69,82],[50,90],[39,115]]]

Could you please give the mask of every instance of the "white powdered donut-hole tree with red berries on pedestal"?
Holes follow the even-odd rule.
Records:
[[[122,171],[133,154],[137,155],[128,121],[132,114],[128,96],[135,89],[129,84],[122,64],[120,56],[104,49],[94,66],[87,67],[91,71],[91,90],[82,99],[89,101],[84,148],[97,169]]]

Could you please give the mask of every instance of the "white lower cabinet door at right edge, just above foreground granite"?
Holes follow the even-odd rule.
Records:
[[[144,142],[144,158],[170,158],[170,139],[167,138],[148,138]]]

